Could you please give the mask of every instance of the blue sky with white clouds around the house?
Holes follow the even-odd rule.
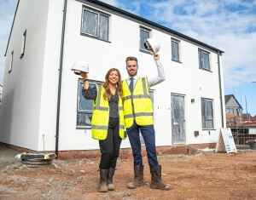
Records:
[[[0,84],[18,0],[0,0]],[[224,51],[224,94],[256,116],[256,0],[102,0]],[[255,82],[255,83],[253,83]]]

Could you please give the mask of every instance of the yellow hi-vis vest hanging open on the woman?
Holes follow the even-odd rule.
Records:
[[[105,140],[108,135],[109,105],[108,100],[104,100],[105,89],[96,85],[97,97],[93,101],[93,113],[91,120],[92,138]],[[125,138],[124,109],[122,99],[119,96],[119,137]]]

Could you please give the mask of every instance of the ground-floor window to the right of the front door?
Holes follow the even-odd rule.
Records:
[[[201,123],[202,129],[213,129],[212,100],[201,99]]]

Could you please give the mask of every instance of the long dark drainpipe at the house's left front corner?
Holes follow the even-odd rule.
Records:
[[[66,12],[67,12],[67,0],[65,0],[65,2],[64,2],[63,21],[62,21],[62,35],[61,35],[61,58],[60,58],[60,69],[59,69],[59,87],[58,87],[56,137],[55,137],[55,154],[56,154],[57,158],[58,158],[58,155],[59,155],[59,124],[60,124],[60,105],[61,105],[61,74],[62,74],[62,60],[63,60],[63,49],[64,49],[64,35],[65,35]]]

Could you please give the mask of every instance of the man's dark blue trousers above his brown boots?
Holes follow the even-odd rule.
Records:
[[[143,165],[142,145],[139,132],[143,135],[149,166],[159,166],[156,156],[154,125],[140,126],[134,121],[131,128],[126,129],[133,153],[134,165]]]

